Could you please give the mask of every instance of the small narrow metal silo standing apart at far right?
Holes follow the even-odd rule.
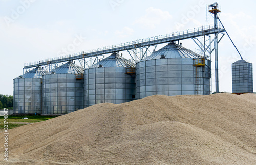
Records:
[[[232,64],[233,93],[253,93],[252,63],[239,60]]]

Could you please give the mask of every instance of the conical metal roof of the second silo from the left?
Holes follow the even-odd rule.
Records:
[[[72,61],[69,61],[69,62],[55,68],[49,74],[82,74],[82,73],[83,73],[82,67],[76,65]]]

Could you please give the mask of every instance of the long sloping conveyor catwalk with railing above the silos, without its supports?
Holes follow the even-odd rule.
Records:
[[[168,43],[168,42],[174,42],[174,41],[179,41],[179,40],[184,40],[184,39],[189,39],[189,38],[200,37],[200,36],[204,36],[204,35],[216,34],[218,32],[224,32],[224,29],[222,29],[222,26],[220,26],[220,27],[221,28],[219,28],[219,26],[217,28],[215,28],[214,25],[202,26],[200,28],[194,28],[194,29],[190,29],[190,30],[186,30],[186,31],[175,32],[172,34],[160,35],[160,36],[155,36],[155,37],[151,37],[151,38],[147,38],[147,39],[135,40],[135,41],[131,41],[131,42],[122,43],[119,45],[113,45],[113,46],[107,46],[107,47],[103,47],[103,48],[93,49],[90,51],[82,51],[79,53],[70,54],[68,56],[46,59],[46,60],[32,62],[32,63],[26,63],[24,65],[24,69],[37,67],[37,66],[43,66],[43,65],[49,65],[49,64],[54,64],[54,63],[60,63],[60,62],[65,62],[65,61],[69,61],[69,60],[77,60],[77,59],[84,59],[84,58],[89,58],[89,57],[94,57],[94,56],[100,56],[103,54],[109,54],[109,53],[113,53],[113,52],[133,50],[135,47],[146,47],[146,46],[151,46],[151,45],[157,45],[157,44],[162,44],[162,43]]]

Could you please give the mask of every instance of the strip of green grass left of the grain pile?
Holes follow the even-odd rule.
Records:
[[[23,119],[23,118],[28,118],[28,119]],[[26,125],[27,123],[36,123],[40,121],[45,121],[48,119],[55,118],[56,116],[13,116],[9,115],[8,116],[8,130],[12,128],[16,128],[19,126]],[[15,123],[13,123],[15,122]],[[24,123],[24,124],[21,124]],[[4,116],[0,116],[0,132],[4,131]]]

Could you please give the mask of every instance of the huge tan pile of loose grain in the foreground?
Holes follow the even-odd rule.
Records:
[[[9,133],[8,164],[256,164],[256,95],[155,95]]]

